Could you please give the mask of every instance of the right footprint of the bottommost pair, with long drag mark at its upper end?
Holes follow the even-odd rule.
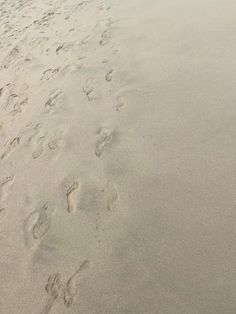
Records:
[[[69,278],[66,283],[65,293],[64,293],[64,303],[67,307],[69,307],[76,298],[77,290],[78,290],[78,281],[80,277],[80,272],[87,269],[89,267],[89,261],[85,260],[79,269]]]

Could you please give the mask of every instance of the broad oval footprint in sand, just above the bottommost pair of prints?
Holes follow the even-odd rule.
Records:
[[[32,247],[40,241],[51,227],[53,210],[45,204],[40,210],[32,212],[25,221],[26,245]]]

